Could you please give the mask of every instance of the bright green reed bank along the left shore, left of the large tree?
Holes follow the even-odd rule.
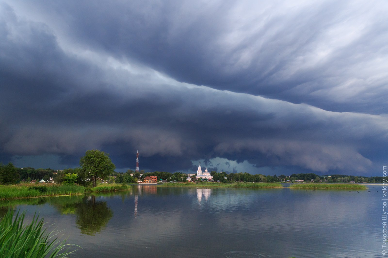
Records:
[[[85,187],[78,185],[0,185],[0,200],[50,195],[73,195],[84,192]]]

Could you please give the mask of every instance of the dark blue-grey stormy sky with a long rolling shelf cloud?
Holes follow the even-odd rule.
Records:
[[[380,175],[387,1],[2,1],[0,160]]]

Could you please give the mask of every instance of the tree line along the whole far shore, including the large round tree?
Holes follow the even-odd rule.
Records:
[[[0,163],[0,184],[9,185],[19,183],[21,181],[31,181],[33,179],[39,181],[41,179],[47,181],[53,178],[55,183],[67,183],[88,186],[92,184],[95,186],[100,179],[108,180],[109,183],[137,183],[139,179],[146,176],[157,176],[158,179],[185,182],[187,181],[187,174],[184,173],[169,173],[163,171],[154,171],[145,173],[144,170],[140,173],[128,170],[126,173],[119,173],[114,171],[116,166],[109,158],[109,154],[100,150],[88,150],[85,156],[80,159],[80,167],[64,169],[55,171],[54,169],[35,169],[33,167],[16,168],[12,163],[3,165]],[[131,176],[132,174],[132,176]],[[140,176],[142,174],[142,176]],[[300,173],[286,176],[270,176],[263,174],[249,174],[249,173],[229,173],[211,171],[214,181],[222,183],[233,182],[286,182],[304,180],[305,182],[329,182],[329,183],[348,183],[354,181],[355,183],[382,183],[384,178],[382,176],[348,176],[343,174],[332,174],[330,176],[319,176],[314,173]],[[192,181],[198,181],[195,175],[191,176]],[[201,179],[199,179],[201,181]]]

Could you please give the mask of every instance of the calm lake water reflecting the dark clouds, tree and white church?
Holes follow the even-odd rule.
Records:
[[[74,257],[385,257],[382,196],[382,186],[357,193],[139,185],[9,205],[54,224],[82,247]]]

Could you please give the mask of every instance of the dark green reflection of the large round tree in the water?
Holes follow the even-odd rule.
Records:
[[[95,196],[85,197],[82,203],[75,204],[76,226],[82,234],[94,236],[105,227],[112,218],[112,209],[103,200],[96,200]]]

